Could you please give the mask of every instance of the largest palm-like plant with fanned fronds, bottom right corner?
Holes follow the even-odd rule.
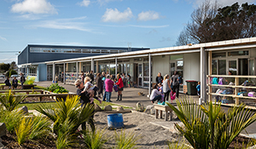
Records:
[[[228,148],[243,129],[256,121],[256,114],[244,105],[230,108],[225,113],[220,105],[196,106],[192,101],[177,100],[177,108],[167,103],[176,112],[184,126],[177,129],[194,148]]]

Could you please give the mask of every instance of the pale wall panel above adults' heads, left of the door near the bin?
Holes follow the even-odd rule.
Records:
[[[166,74],[169,74],[169,58],[170,55],[160,56],[152,56],[153,59],[153,70],[152,70],[152,83],[155,83],[155,77],[158,72],[161,72],[162,76],[165,77]],[[170,74],[169,74],[170,75]]]

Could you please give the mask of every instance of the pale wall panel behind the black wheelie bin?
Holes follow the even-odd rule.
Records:
[[[183,83],[187,80],[200,81],[200,53],[184,54]]]

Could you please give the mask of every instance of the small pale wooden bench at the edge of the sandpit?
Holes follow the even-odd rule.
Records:
[[[159,112],[160,112],[160,118],[163,118],[163,112],[165,112],[165,120],[170,120],[172,121],[172,109],[170,106],[162,106],[158,104],[154,104],[154,109],[155,109],[155,118],[159,117]]]

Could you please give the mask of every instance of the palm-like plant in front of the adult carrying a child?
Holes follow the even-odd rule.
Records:
[[[58,135],[62,123],[66,120],[73,123],[71,134],[75,133],[79,125],[86,122],[90,116],[92,116],[94,106],[87,104],[81,107],[79,104],[79,96],[76,95],[72,97],[67,96],[66,101],[63,99],[59,100],[55,108],[51,105],[40,105],[35,109],[54,122],[53,131]]]

